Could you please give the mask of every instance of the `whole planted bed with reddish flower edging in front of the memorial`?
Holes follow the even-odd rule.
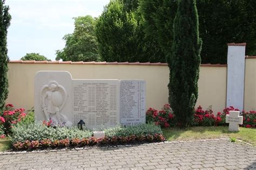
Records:
[[[118,145],[164,141],[159,126],[143,124],[124,128],[105,129],[106,136],[96,139],[90,130],[78,130],[66,126],[50,126],[48,123],[17,124],[11,138],[15,150],[34,150],[36,148],[84,147],[93,145]]]

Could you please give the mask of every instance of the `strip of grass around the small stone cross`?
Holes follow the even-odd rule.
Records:
[[[190,127],[187,129],[163,129],[166,140],[199,140],[215,138],[237,138],[256,146],[256,129],[240,128],[229,132],[228,126]]]

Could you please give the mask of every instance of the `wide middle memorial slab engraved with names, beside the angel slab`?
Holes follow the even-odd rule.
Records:
[[[88,129],[120,124],[118,80],[73,80],[73,120]]]

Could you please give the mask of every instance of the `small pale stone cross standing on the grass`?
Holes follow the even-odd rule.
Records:
[[[239,131],[239,124],[242,124],[242,116],[239,116],[240,111],[230,111],[226,115],[226,123],[230,123],[228,131]]]

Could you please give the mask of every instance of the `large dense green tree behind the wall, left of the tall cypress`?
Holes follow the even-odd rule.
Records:
[[[138,0],[113,0],[96,25],[99,53],[104,61],[165,62],[158,44],[144,31]]]

